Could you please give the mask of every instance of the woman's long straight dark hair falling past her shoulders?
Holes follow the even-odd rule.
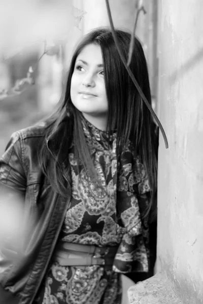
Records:
[[[127,60],[130,33],[117,29],[116,34]],[[66,181],[69,179],[67,168],[70,167],[67,165],[67,151],[71,141],[74,140],[76,156],[90,176],[95,176],[95,169],[82,131],[80,112],[73,105],[70,96],[71,78],[76,59],[83,48],[89,44],[100,46],[103,55],[108,99],[107,129],[110,132],[117,130],[117,156],[119,158],[130,139],[136,155],[139,155],[147,170],[152,193],[155,193],[157,182],[155,124],[119,57],[109,28],[92,30],[77,46],[67,75],[65,94],[49,118],[46,140],[42,144],[39,157],[40,164],[56,191],[65,196]],[[147,63],[142,45],[137,38],[134,41],[130,69],[151,104]]]

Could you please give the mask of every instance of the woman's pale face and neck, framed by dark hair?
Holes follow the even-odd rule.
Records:
[[[107,120],[108,102],[100,46],[90,44],[78,55],[71,79],[71,100],[91,123]]]

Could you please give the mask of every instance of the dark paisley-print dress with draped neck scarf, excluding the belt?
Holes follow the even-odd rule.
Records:
[[[150,188],[144,166],[134,158],[130,143],[118,164],[116,134],[109,137],[86,120],[82,123],[100,185],[96,187],[78,166],[73,143],[69,150],[72,197],[60,240],[118,246],[118,251],[111,270],[53,261],[35,303],[120,304],[120,274],[148,271],[148,220],[142,212],[148,206]]]

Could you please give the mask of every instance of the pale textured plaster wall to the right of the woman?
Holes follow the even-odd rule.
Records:
[[[157,268],[203,303],[203,1],[159,1]]]

